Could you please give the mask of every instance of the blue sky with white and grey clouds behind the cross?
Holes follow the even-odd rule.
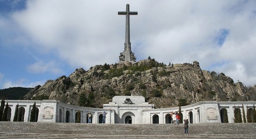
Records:
[[[0,89],[115,64],[130,16],[136,61],[193,63],[256,84],[255,0],[0,0]]]

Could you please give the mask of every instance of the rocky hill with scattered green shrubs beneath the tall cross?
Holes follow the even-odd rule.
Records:
[[[144,96],[156,108],[194,104],[202,100],[255,101],[256,85],[244,87],[223,73],[201,70],[199,63],[169,64],[145,59],[137,63],[96,65],[76,69],[38,85],[23,100],[48,96],[80,106],[102,107],[115,95]]]

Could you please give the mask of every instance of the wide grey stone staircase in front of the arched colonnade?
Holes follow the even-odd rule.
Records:
[[[0,139],[256,139],[256,123],[85,124],[0,122]]]

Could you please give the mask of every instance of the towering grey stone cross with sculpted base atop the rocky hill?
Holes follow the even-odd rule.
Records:
[[[131,52],[131,42],[130,42],[130,15],[138,15],[137,11],[130,11],[129,4],[126,5],[126,11],[119,11],[118,15],[126,15],[125,23],[125,50],[120,53],[119,62],[122,61],[133,61],[135,62],[136,57],[134,53]]]

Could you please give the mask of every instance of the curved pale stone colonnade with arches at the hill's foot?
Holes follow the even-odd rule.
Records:
[[[133,102],[139,101],[139,99],[140,98]],[[87,115],[89,112],[91,112],[93,116],[92,123],[102,123],[102,112],[106,111],[108,113],[106,115],[106,123],[108,124],[168,124],[171,123],[170,112],[179,111],[179,107],[154,109],[154,105],[149,106],[148,103],[146,104],[144,102],[142,102],[142,104],[116,104],[112,102],[107,105],[104,104],[104,106],[108,106],[108,108],[104,107],[103,109],[67,105],[57,100],[5,100],[5,104],[7,102],[9,105],[9,121],[13,121],[15,107],[19,104],[19,112],[22,113],[21,121],[24,122],[29,122],[34,102],[38,108],[38,122],[75,123],[79,110],[81,111],[81,123],[88,123]],[[234,108],[240,110],[241,116],[243,116],[242,105],[247,115],[247,109],[253,112],[253,105],[256,105],[256,102],[201,101],[196,104],[182,106],[181,112],[182,118],[188,119],[190,123],[213,123],[223,122],[223,109],[226,109],[228,122],[234,123]]]

